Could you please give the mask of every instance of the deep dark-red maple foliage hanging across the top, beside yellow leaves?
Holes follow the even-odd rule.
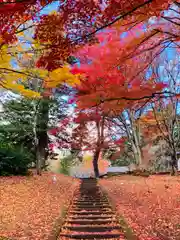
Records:
[[[47,51],[37,64],[55,69],[78,47],[94,43],[94,33],[100,29],[122,18],[126,25],[146,21],[159,16],[170,3],[171,0],[66,0],[60,3],[58,14],[41,17],[36,38],[46,43]]]

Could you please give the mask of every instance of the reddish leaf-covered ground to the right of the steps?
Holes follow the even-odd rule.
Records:
[[[100,184],[139,240],[180,239],[180,177],[120,176]]]

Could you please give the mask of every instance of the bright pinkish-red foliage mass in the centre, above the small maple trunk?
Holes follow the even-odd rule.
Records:
[[[77,56],[80,59],[86,56],[86,62],[84,61],[80,68],[72,69],[72,73],[82,75],[81,84],[77,86],[79,108],[101,105],[106,112],[122,111],[136,104],[138,100],[161,92],[165,87],[163,83],[155,83],[153,77],[146,79],[145,72],[136,75],[144,61],[133,59],[125,64],[123,62],[118,64],[118,60],[121,59],[122,43],[115,31],[104,36],[101,34],[99,41],[100,44],[79,51]],[[133,65],[137,68],[132,69]]]

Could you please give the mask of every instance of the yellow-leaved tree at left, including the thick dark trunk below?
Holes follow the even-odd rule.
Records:
[[[48,148],[50,96],[45,92],[51,93],[52,88],[64,83],[78,84],[79,80],[78,76],[70,73],[68,64],[51,72],[37,68],[36,60],[42,54],[42,46],[31,36],[21,33],[16,43],[0,46],[0,87],[32,101],[36,169],[37,173],[41,174],[42,168],[45,167]]]

